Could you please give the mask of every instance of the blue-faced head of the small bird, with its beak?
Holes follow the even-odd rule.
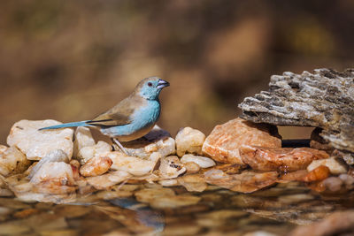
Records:
[[[136,86],[135,93],[148,100],[158,99],[162,88],[170,86],[170,83],[158,77],[145,78]]]

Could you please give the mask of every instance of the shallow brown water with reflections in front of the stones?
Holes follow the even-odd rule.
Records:
[[[135,194],[145,189],[152,193],[149,202],[137,201]],[[215,186],[202,193],[184,187],[167,191],[155,184],[131,183],[66,204],[1,197],[0,235],[243,235],[259,231],[287,235],[297,225],[352,209],[353,200],[352,193],[323,195],[297,182],[253,194]]]

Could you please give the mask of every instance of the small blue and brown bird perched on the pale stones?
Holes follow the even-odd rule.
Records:
[[[158,95],[170,83],[156,76],[141,80],[133,93],[120,101],[112,109],[94,119],[48,126],[39,130],[51,130],[67,127],[95,127],[104,135],[112,138],[119,148],[129,155],[120,141],[134,141],[141,138],[155,126],[161,112]]]

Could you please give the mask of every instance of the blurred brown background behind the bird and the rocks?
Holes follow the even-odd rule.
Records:
[[[209,133],[284,71],[354,63],[354,1],[1,1],[0,143],[19,119],[94,118],[144,77],[159,125]]]

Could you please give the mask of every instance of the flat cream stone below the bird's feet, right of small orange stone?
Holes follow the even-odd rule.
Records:
[[[162,157],[159,152],[154,152],[148,159],[142,159],[136,156],[127,156],[119,151],[107,153],[113,161],[112,170],[127,171],[135,176],[142,176],[152,172]]]

